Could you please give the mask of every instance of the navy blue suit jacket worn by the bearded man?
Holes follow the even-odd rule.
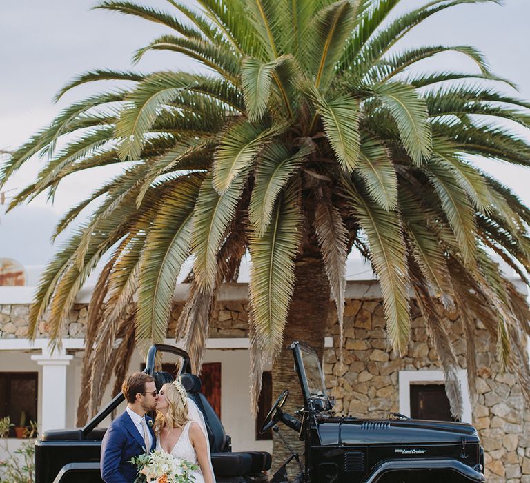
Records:
[[[146,420],[152,422],[150,417]],[[153,436],[153,445],[149,451],[155,449],[156,437],[147,425]],[[144,438],[140,436],[135,423],[130,419],[127,411],[119,415],[108,427],[103,442],[101,442],[101,478],[106,483],[132,483],[136,478],[136,466],[129,463],[132,457],[145,453]]]

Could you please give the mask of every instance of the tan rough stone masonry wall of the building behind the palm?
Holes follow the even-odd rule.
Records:
[[[175,304],[168,337],[175,337],[176,321],[183,304]],[[411,302],[412,324],[409,350],[398,357],[386,337],[382,301],[349,299],[344,308],[343,364],[338,362],[339,326],[330,303],[327,334],[333,348],[324,352],[326,385],[335,396],[335,411],[357,417],[388,417],[399,411],[399,371],[439,370],[438,356],[427,335],[424,320]],[[29,306],[0,305],[0,338],[26,337]],[[455,353],[465,368],[466,346],[462,324],[455,314],[443,313]],[[63,337],[84,337],[86,304],[76,304]],[[48,324],[38,326],[37,337],[47,337]],[[248,337],[248,302],[217,302],[210,337]],[[478,397],[473,402],[473,424],[485,451],[487,481],[530,483],[530,411],[516,377],[500,370],[495,339],[477,322],[475,346],[478,359]]]

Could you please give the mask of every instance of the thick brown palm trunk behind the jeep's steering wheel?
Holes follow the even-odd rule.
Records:
[[[273,401],[286,389],[289,397],[284,411],[294,415],[304,405],[298,377],[294,371],[293,353],[287,348],[295,340],[307,342],[317,351],[320,360],[324,352],[324,335],[330,289],[324,266],[320,259],[302,259],[295,268],[296,284],[284,331],[282,352],[273,364]],[[304,453],[304,442],[298,439],[298,433],[280,424],[280,431],[289,445],[300,455]],[[291,455],[282,440],[273,432],[273,472]],[[302,458],[303,462],[303,458]],[[293,461],[289,464],[289,473],[299,470]]]

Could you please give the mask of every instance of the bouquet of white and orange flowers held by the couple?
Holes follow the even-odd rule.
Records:
[[[196,464],[159,449],[134,457],[130,462],[137,466],[135,483],[188,483],[195,479],[190,471],[199,469]]]

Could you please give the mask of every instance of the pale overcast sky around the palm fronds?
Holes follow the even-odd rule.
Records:
[[[165,0],[144,3],[171,9]],[[422,3],[425,1],[402,0],[395,14]],[[95,4],[93,0],[1,2],[0,150],[16,148],[69,103],[97,92],[96,86],[79,88],[59,103],[52,103],[52,97],[66,81],[95,68],[128,69],[135,49],[166,32],[162,26],[141,19],[90,10]],[[487,56],[493,72],[511,79],[518,85],[518,95],[530,99],[529,18],[529,0],[506,0],[502,7],[493,3],[459,6],[416,28],[402,46],[476,46]],[[473,69],[467,59],[458,55],[440,56],[429,67]],[[181,56],[167,53],[152,53],[137,66],[142,72],[168,68],[195,66]],[[37,168],[38,161],[23,168],[6,189],[26,186]],[[481,164],[481,168],[492,172],[530,204],[529,171],[498,166],[493,161]],[[98,170],[65,181],[53,206],[44,197],[8,214],[0,206],[0,257],[18,259],[26,265],[46,263],[54,250],[49,237],[57,217],[109,174]]]

